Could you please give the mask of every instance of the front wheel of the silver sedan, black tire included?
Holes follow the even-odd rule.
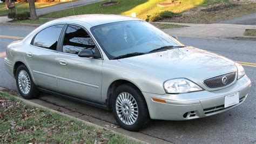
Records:
[[[122,103],[122,99],[120,99],[122,97],[126,98],[126,100],[131,99],[130,102],[133,102],[130,104],[133,104],[133,107],[131,107],[129,103],[126,103],[129,105],[127,106],[124,101]],[[132,98],[135,100],[135,103]],[[124,107],[126,107],[126,109]],[[137,87],[131,84],[124,84],[117,87],[116,91],[114,91],[113,97],[111,98],[111,109],[118,124],[128,131],[139,131],[140,129],[145,128],[150,122],[149,110],[143,94],[138,90]],[[136,110],[138,113],[136,113]],[[129,116],[130,118],[125,119],[125,117],[123,117],[123,119],[122,116],[125,114],[128,114],[126,118]]]

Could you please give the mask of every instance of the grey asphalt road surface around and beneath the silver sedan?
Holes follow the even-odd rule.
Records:
[[[35,28],[29,26],[0,25],[0,35],[24,37],[33,29]],[[6,45],[14,40],[0,36],[0,86],[12,90],[16,90],[15,81],[5,72],[3,58]],[[190,37],[180,37],[180,41],[186,45],[221,54],[235,61],[256,63],[256,42],[253,41]],[[256,143],[256,86],[254,83],[256,67],[244,67],[247,76],[253,82],[250,94],[244,104],[230,111],[203,119],[152,120],[149,127],[140,133],[174,143]],[[112,114],[104,109],[87,106],[55,95],[42,95],[40,99],[116,124]]]

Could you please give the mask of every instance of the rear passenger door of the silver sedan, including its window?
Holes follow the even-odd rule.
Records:
[[[57,45],[63,28],[64,24],[56,24],[41,30],[25,53],[37,86],[57,90]]]

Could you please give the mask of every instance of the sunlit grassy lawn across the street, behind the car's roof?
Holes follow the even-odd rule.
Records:
[[[126,16],[130,16],[132,12],[136,12],[137,17],[144,20],[147,18],[147,16],[150,16],[151,20],[153,17],[158,16],[161,12],[170,11],[174,14],[177,13],[177,16],[172,16],[171,18],[165,17],[160,21],[178,23],[215,23],[256,12],[256,3],[244,3],[239,6],[231,6],[231,8],[207,12],[200,11],[199,8],[217,3],[227,3],[228,0],[180,0],[181,4],[179,5],[173,5],[166,8],[160,8],[157,6],[157,3],[164,1],[166,0],[119,0],[120,4],[111,6],[99,6],[104,2],[98,2],[79,6],[74,8],[74,11],[75,15],[103,13]],[[60,18],[72,15],[73,9],[67,9],[48,13],[47,15],[43,16],[45,19],[42,19],[41,17],[38,20],[23,20],[20,22],[42,24],[49,20],[46,20],[46,18]]]

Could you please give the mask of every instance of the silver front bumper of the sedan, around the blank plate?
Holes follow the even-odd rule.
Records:
[[[230,87],[218,91],[198,91],[182,94],[153,94],[143,92],[151,119],[188,120],[221,113],[236,107],[248,96],[251,80],[245,75]],[[224,97],[239,92],[239,104],[224,108]],[[165,100],[156,102],[153,98]]]

